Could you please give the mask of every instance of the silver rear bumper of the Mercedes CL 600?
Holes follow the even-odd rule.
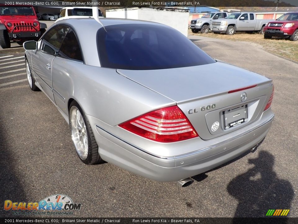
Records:
[[[271,114],[255,128],[224,142],[169,158],[150,155],[99,126],[93,133],[103,160],[151,180],[174,182],[211,170],[248,151],[266,136],[273,118]]]

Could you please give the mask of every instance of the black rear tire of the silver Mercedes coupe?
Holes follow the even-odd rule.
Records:
[[[76,108],[79,110],[79,112],[82,115],[82,118],[84,120],[84,124],[85,124],[85,127],[86,127],[86,131],[87,131],[87,137],[88,137],[88,156],[87,156],[87,158],[86,159],[82,159],[79,156],[78,153],[77,153],[77,155],[79,156],[79,159],[84,164],[87,164],[87,165],[93,165],[93,164],[102,163],[103,160],[102,160],[102,158],[100,157],[100,155],[98,153],[98,145],[97,145],[97,142],[95,140],[95,137],[94,137],[93,131],[91,129],[91,126],[89,124],[89,121],[86,119],[86,116],[85,116],[84,111],[82,110],[82,108],[79,106],[79,104],[75,100],[73,100],[70,103],[70,106],[69,106],[69,128],[70,128],[70,134],[72,135],[71,113],[72,113],[72,110],[74,110]]]

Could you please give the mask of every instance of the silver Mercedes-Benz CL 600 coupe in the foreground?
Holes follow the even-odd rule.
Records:
[[[190,183],[254,148],[273,121],[271,79],[211,58],[169,26],[67,19],[23,46],[31,90],[69,123],[85,164]]]

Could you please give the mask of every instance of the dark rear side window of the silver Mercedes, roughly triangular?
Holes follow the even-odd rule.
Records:
[[[75,32],[70,29],[66,34],[59,51],[59,56],[63,58],[83,61],[82,52]]]

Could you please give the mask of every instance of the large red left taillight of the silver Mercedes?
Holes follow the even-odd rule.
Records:
[[[177,142],[199,136],[178,106],[151,111],[119,126],[157,142]]]

